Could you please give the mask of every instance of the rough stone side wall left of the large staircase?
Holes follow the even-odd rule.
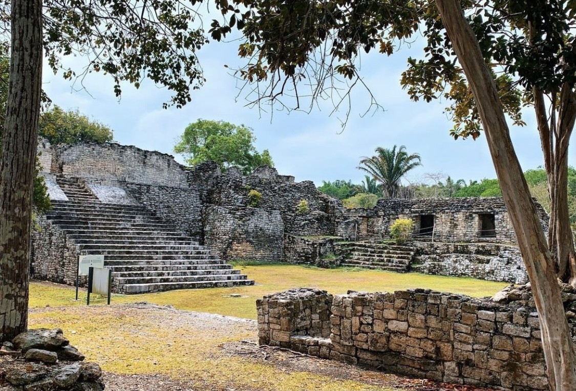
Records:
[[[36,224],[40,230],[32,231],[30,276],[35,280],[75,284],[80,255],[78,246],[46,216],[36,216]]]

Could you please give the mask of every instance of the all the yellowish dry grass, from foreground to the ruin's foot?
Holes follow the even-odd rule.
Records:
[[[318,269],[294,265],[240,266],[256,285],[238,288],[184,290],[145,295],[114,295],[113,304],[149,302],[176,309],[203,311],[240,318],[256,318],[255,300],[294,287],[316,287],[332,294],[358,291],[395,291],[431,288],[472,296],[492,295],[506,284],[415,273]],[[31,284],[32,328],[62,328],[87,357],[116,374],[161,374],[185,379],[192,389],[210,390],[381,390],[390,386],[385,374],[378,383],[332,378],[305,370],[286,369],[246,356],[226,354],[232,341],[256,341],[253,322],[234,322],[214,315],[150,306],[104,306],[93,296],[86,308],[85,291],[74,301],[74,288]],[[239,294],[240,298],[232,298]],[[210,321],[210,319],[212,319]],[[363,381],[364,380],[364,381]],[[154,385],[155,387],[157,385]],[[153,387],[151,389],[154,389]],[[188,388],[187,388],[188,389]],[[401,391],[400,388],[394,388]]]

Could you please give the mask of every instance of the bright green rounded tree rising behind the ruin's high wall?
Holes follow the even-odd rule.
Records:
[[[174,152],[182,153],[190,166],[212,160],[222,170],[238,167],[245,175],[259,166],[274,167],[267,149],[256,151],[252,131],[244,125],[199,119],[184,129]]]

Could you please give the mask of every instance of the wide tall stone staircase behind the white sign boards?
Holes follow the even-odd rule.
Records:
[[[115,292],[254,284],[143,206],[85,200],[52,201],[52,205],[47,219],[65,231],[81,255],[104,255]]]

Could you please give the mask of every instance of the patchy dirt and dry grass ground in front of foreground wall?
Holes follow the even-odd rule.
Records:
[[[283,379],[297,379],[295,383],[291,383],[290,389],[320,389],[314,382],[298,383],[298,379],[305,378],[308,374],[324,376],[336,384],[349,384],[346,382],[354,381],[366,385],[366,388],[377,390],[480,390],[470,386],[435,384],[422,379],[403,378],[285,349],[258,346],[256,321],[176,310],[170,306],[137,303],[98,307],[48,307],[31,310],[31,319],[31,328],[50,326],[52,322],[56,325],[60,322],[59,326],[64,329],[65,336],[73,337],[70,338],[71,341],[89,356],[90,360],[103,366],[104,383],[109,391],[256,391],[274,389],[273,381],[278,385]],[[101,325],[108,322],[109,329],[99,326],[99,336],[95,337],[92,330],[89,330],[85,333],[86,336],[82,337],[82,327],[87,320],[89,324]],[[130,333],[127,334],[127,330]],[[240,338],[237,337],[239,335]],[[116,342],[108,344],[107,339],[112,336]],[[188,337],[190,346],[187,352],[175,348],[182,344],[181,341],[185,338],[183,336],[194,336]],[[130,339],[132,341],[129,341]],[[118,341],[126,345],[123,351],[114,351]],[[172,351],[173,347],[175,351]],[[201,350],[209,353],[195,356]],[[162,360],[168,360],[170,355],[174,355],[175,359],[166,361],[170,366],[163,366]],[[144,365],[150,361],[154,361],[152,370],[150,367],[137,367],[139,363]],[[222,363],[235,363],[236,367],[223,364],[223,367],[219,368]],[[134,373],[126,373],[124,367],[132,368]],[[191,368],[198,368],[196,371],[202,372],[202,375],[190,375],[194,374],[191,372],[194,369]],[[264,375],[260,378],[253,373],[248,374],[256,377],[252,379],[252,384],[236,382],[234,377],[226,377],[226,371],[242,372],[244,368],[247,369],[245,374],[248,374],[249,369],[259,368],[261,371],[269,370],[272,376],[268,374],[267,378]],[[209,375],[205,374],[207,371],[210,372]],[[241,376],[242,373],[237,375]],[[346,387],[343,386],[342,389]]]

